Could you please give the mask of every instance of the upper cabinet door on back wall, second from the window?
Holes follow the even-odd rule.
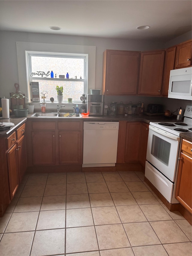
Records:
[[[165,51],[142,52],[139,95],[161,95]]]

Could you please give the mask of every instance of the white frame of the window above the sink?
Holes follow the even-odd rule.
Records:
[[[81,58],[84,59],[84,79],[66,79],[66,78],[50,78],[50,77],[31,77],[32,71],[32,64],[31,64],[31,56],[42,56],[42,57],[66,57],[66,58]],[[84,90],[83,93],[87,94],[88,91],[88,54],[81,54],[81,53],[55,53],[55,52],[39,52],[39,51],[25,51],[25,58],[26,58],[26,75],[27,75],[27,85],[28,85],[28,97],[29,101],[32,102],[32,80],[52,80],[52,81],[80,81],[84,83]],[[42,70],[43,71],[43,70]],[[41,99],[40,99],[41,102]],[[49,99],[46,99],[46,102],[51,102]],[[63,102],[67,102],[64,100]],[[75,101],[76,103],[80,103],[79,101]]]

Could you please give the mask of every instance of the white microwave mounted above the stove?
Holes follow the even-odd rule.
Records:
[[[168,98],[192,100],[192,68],[170,71]]]

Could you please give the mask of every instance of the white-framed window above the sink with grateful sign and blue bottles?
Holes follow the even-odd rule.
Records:
[[[88,54],[50,53],[26,51],[28,93],[33,102],[41,101],[39,95],[47,91],[57,101],[56,86],[63,86],[63,101],[72,98],[80,102],[81,95],[87,94]],[[54,76],[51,78],[51,71]],[[69,74],[69,79],[66,74]],[[61,78],[59,76],[65,76]],[[35,82],[35,83],[32,83]]]

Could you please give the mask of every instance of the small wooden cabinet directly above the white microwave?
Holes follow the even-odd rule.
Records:
[[[191,66],[191,40],[178,44],[176,49],[176,68]]]

